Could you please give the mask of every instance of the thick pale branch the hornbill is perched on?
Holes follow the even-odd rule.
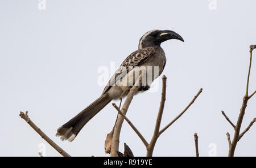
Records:
[[[141,79],[142,79],[142,74],[140,73],[137,81],[135,82],[133,87],[130,89],[130,91],[129,91],[127,97],[126,97],[126,100],[123,103],[123,107],[122,107],[121,111],[124,115],[126,115],[126,113],[127,113],[127,110],[128,110],[128,108],[131,104],[131,100],[133,100],[134,94],[139,89],[139,86],[141,84]],[[113,133],[113,139],[112,139],[112,146],[111,146],[111,150],[110,150],[110,156],[118,157],[117,152],[119,151],[119,137],[120,137],[122,124],[123,124],[123,117],[119,115],[118,119],[117,119],[117,122],[115,123],[115,127],[114,127],[114,133]]]

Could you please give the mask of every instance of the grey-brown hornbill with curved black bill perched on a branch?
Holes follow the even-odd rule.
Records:
[[[110,101],[127,96],[139,74],[142,74],[142,80],[138,92],[147,91],[152,81],[163,72],[166,64],[166,56],[160,44],[170,39],[184,41],[180,35],[173,31],[152,30],[145,33],[139,40],[139,49],[123,61],[109,80],[101,96],[61,126],[57,130],[56,136],[60,136],[61,140],[73,141],[82,127]],[[155,75],[156,73],[157,75]],[[146,80],[143,80],[143,76],[146,76]]]

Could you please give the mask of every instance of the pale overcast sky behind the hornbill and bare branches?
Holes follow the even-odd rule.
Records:
[[[216,10],[201,1],[0,1],[0,156],[60,156],[24,120],[29,117],[71,156],[109,156],[106,134],[117,112],[105,107],[69,143],[55,137],[57,128],[93,102],[104,89],[97,84],[98,67],[118,66],[137,50],[139,38],[151,29],[170,29],[185,40],[162,44],[167,57],[166,126],[203,88],[195,104],[158,139],[154,156],[195,156],[193,133],[199,136],[200,156],[227,156],[226,132],[236,123],[245,94],[249,46],[256,44],[256,1],[220,1]],[[250,93],[256,89],[256,53]],[[112,75],[112,74],[110,74]],[[160,84],[160,83],[159,83]],[[127,117],[150,141],[161,88],[134,97]],[[242,131],[256,117],[256,97],[248,103]],[[239,141],[236,156],[256,156],[256,125]],[[146,149],[124,122],[120,150],[129,145],[134,156]]]

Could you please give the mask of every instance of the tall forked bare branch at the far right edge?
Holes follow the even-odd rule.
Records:
[[[240,138],[243,136],[243,134],[250,129],[250,126],[253,125],[253,123],[250,124],[249,127],[247,127],[248,130],[245,130],[245,132],[243,134],[241,133],[241,135],[240,135],[241,125],[242,125],[242,121],[243,121],[243,116],[245,115],[245,109],[246,109],[246,106],[247,106],[247,102],[255,94],[255,93],[253,93],[253,94],[251,94],[251,96],[248,96],[249,79],[250,79],[250,71],[251,71],[251,59],[252,59],[252,56],[253,56],[253,50],[255,48],[256,48],[256,45],[251,45],[250,46],[250,63],[249,63],[249,70],[248,70],[247,82],[246,82],[246,92],[245,92],[245,96],[243,97],[242,107],[240,109],[240,114],[239,114],[239,117],[237,119],[237,124],[236,124],[235,132],[234,132],[234,137],[233,137],[232,143],[231,143],[230,148],[229,148],[229,155],[228,156],[230,156],[230,157],[234,156],[234,151],[236,149],[237,142],[240,140]]]

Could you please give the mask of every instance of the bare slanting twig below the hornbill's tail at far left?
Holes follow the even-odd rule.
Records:
[[[22,111],[20,111],[19,116],[23,118],[38,134],[47,141],[49,145],[51,145],[54,149],[57,150],[62,156],[70,157],[70,155],[65,152],[63,149],[61,149],[57,144],[55,144],[43,131],[40,130],[33,122],[28,118],[27,111],[26,114],[24,114]]]

